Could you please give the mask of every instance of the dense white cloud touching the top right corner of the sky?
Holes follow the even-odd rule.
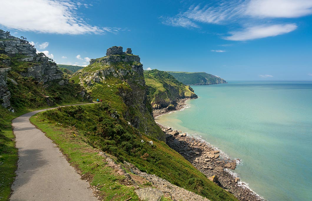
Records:
[[[311,0],[252,0],[247,15],[253,17],[302,17],[312,14]]]

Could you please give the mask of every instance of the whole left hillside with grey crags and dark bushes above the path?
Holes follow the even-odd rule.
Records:
[[[48,107],[90,98],[63,78],[63,72],[26,38],[0,30],[0,103],[14,110]]]

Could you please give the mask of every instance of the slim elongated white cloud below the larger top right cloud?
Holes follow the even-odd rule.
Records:
[[[297,29],[295,24],[275,24],[268,26],[253,26],[248,27],[242,31],[230,32],[232,36],[223,37],[223,39],[229,41],[247,41],[258,38],[265,38],[269,36],[277,36],[285,33],[289,33]]]

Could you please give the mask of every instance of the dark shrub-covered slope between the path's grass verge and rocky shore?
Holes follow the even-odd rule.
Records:
[[[112,117],[114,112],[115,109],[105,101],[94,105],[49,110],[39,114],[33,121],[38,122],[40,127],[44,126],[46,129],[55,128],[58,131],[72,129],[67,135],[62,135],[65,135],[65,138],[69,138],[70,141],[80,139],[80,145],[87,142],[93,148],[115,156],[120,162],[128,161],[141,171],[167,179],[173,184],[205,196],[212,201],[236,200],[232,194],[208,180],[205,175],[168,147],[165,142],[139,132],[123,117]],[[57,127],[60,128],[57,129]],[[46,130],[43,129],[43,131]],[[78,139],[74,138],[73,134]],[[62,140],[60,137],[61,134],[56,140]],[[144,142],[142,143],[141,140]],[[153,145],[148,142],[151,140]],[[63,147],[62,149],[68,148]],[[75,157],[75,154],[72,157]],[[83,162],[75,157],[75,160],[78,161],[75,161],[74,164],[79,166],[87,164],[91,167],[94,166],[94,163],[90,163],[88,159],[84,159],[85,162]],[[94,160],[94,157],[90,160]],[[87,168],[88,170],[84,174],[88,174],[88,172],[93,175],[97,174],[93,168]],[[100,169],[101,166],[96,166],[96,168]]]

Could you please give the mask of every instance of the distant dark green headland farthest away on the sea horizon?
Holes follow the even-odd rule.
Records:
[[[175,79],[186,85],[208,85],[227,83],[224,79],[205,72],[173,72],[166,71]]]

